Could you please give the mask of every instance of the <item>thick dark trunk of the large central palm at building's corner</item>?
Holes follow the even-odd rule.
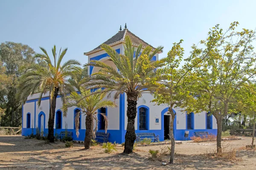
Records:
[[[127,127],[125,134],[125,150],[124,153],[132,153],[134,141],[136,139],[135,134],[135,118],[137,115],[137,95],[127,94]],[[139,128],[139,127],[138,127]]]

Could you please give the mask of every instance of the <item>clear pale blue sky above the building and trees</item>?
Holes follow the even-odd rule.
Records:
[[[41,52],[68,48],[67,59],[87,62],[83,53],[92,50],[119,31],[120,25],[153,46],[163,45],[163,54],[179,42],[185,49],[207,37],[209,28],[226,29],[239,21],[241,28],[256,28],[254,0],[0,0],[0,42],[21,42]]]

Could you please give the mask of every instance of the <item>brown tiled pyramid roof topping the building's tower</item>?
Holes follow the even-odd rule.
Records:
[[[149,45],[147,42],[145,42],[142,39],[140,39],[139,37],[137,37],[135,34],[133,34],[128,29],[123,29],[122,31],[118,31],[118,33],[116,33],[113,37],[111,37],[107,41],[103,42],[102,44],[113,45],[113,44],[116,44],[117,42],[123,42],[125,40],[126,35],[128,35],[131,38],[131,42],[133,42],[134,45],[139,45],[139,44],[142,44],[143,46]],[[100,46],[101,45],[99,45],[98,47],[94,48],[93,50],[91,50],[89,52],[84,53],[84,55],[87,55],[92,52],[100,50],[101,49]],[[149,46],[151,46],[151,45],[149,45]],[[152,47],[152,48],[155,49],[154,47]]]

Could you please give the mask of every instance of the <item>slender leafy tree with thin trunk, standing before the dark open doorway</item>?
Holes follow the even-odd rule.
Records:
[[[182,61],[184,50],[180,46],[183,40],[179,43],[174,43],[172,50],[168,52],[166,57],[166,66],[157,70],[158,79],[160,82],[155,81],[154,84],[158,86],[154,92],[154,99],[152,102],[156,102],[158,105],[168,105],[169,113],[171,115],[170,126],[170,163],[173,163],[175,153],[175,139],[174,139],[174,119],[176,113],[173,108],[184,108],[186,103],[192,102],[194,97],[190,94],[193,75],[187,68],[187,65],[183,65],[180,68],[180,62]],[[157,79],[156,79],[157,80]]]

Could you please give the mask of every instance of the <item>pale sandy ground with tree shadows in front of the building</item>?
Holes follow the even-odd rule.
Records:
[[[225,149],[241,148],[250,144],[251,138],[223,142]],[[135,153],[123,155],[123,147],[104,153],[100,146],[83,150],[82,144],[65,148],[64,143],[47,144],[42,140],[24,139],[23,136],[0,136],[0,169],[52,169],[52,170],[192,170],[192,169],[256,169],[256,151],[237,150],[238,160],[223,161],[211,159],[206,153],[215,152],[215,142],[176,144],[175,164],[162,166],[161,161],[148,159],[149,149],[161,150],[166,146],[137,147]],[[168,157],[164,157],[168,161]]]

